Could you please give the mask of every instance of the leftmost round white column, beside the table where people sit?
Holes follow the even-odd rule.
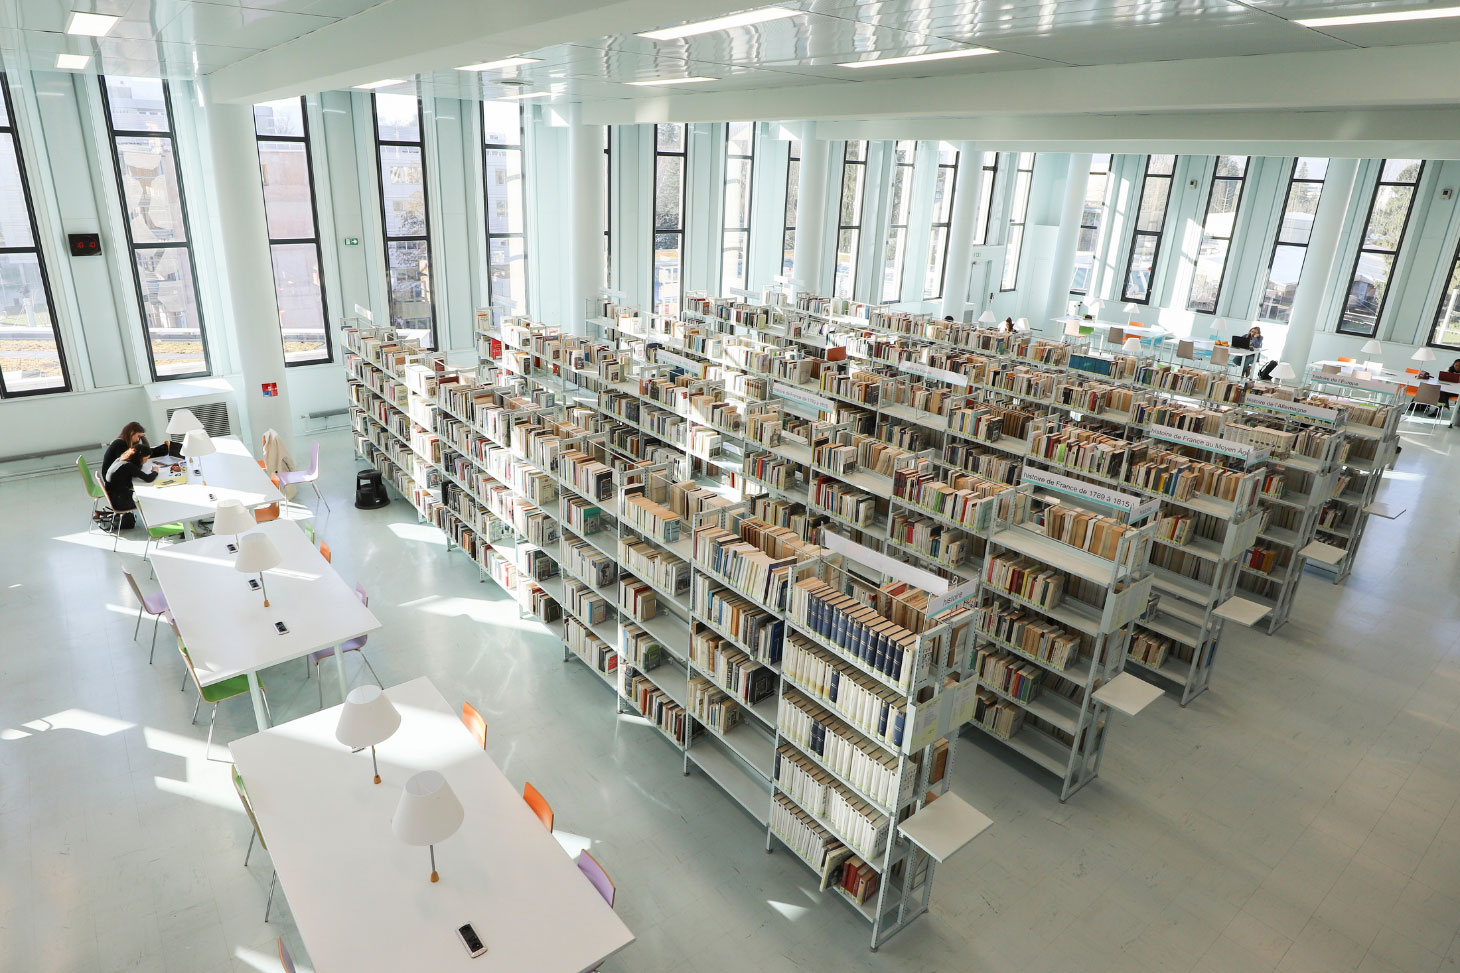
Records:
[[[279,332],[279,302],[274,297],[269,226],[264,221],[263,178],[250,105],[210,102],[207,133],[213,150],[213,199],[218,206],[218,241],[226,269],[219,282],[225,323],[238,352],[242,374],[238,396],[242,405],[244,441],[258,450],[263,434],[276,430],[292,456],[293,415],[289,383],[285,380],[283,336]],[[274,396],[264,396],[263,386]]]

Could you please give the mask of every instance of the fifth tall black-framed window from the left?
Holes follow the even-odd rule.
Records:
[[[482,177],[486,180],[486,297],[493,307],[527,313],[527,238],[523,203],[520,101],[482,102]]]

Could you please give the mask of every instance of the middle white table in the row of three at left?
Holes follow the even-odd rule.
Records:
[[[260,669],[334,646],[343,698],[347,687],[340,643],[380,628],[380,619],[296,523],[270,520],[254,530],[273,541],[280,555],[279,567],[264,571],[270,608],[264,608],[263,593],[248,586],[254,576],[234,570],[235,555],[228,552],[232,535],[153,548],[149,560],[199,682],[213,685],[247,675],[254,719],[258,729],[266,729]],[[289,631],[279,634],[276,621]]]

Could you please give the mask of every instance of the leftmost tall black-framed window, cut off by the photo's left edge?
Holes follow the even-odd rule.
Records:
[[[51,314],[51,285],[36,241],[31,187],[10,118],[10,86],[0,75],[0,397],[67,392],[70,377]]]

